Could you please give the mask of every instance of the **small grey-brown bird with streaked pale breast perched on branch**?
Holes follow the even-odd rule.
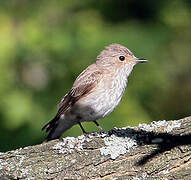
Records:
[[[45,141],[58,139],[74,125],[86,134],[82,122],[97,122],[108,116],[120,103],[134,66],[147,62],[137,58],[125,46],[110,44],[76,78],[72,88],[58,105],[56,116],[42,130],[49,132]]]

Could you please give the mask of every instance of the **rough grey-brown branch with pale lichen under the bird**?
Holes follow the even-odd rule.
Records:
[[[191,179],[191,117],[0,153],[0,179]]]

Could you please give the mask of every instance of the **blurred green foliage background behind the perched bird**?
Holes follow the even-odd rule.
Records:
[[[106,130],[190,115],[190,0],[1,0],[0,151],[41,143],[77,75],[111,43],[150,61],[100,121]],[[75,126],[63,136],[80,134]]]

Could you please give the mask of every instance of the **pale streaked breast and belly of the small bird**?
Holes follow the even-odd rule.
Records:
[[[89,119],[99,119],[109,115],[121,101],[126,85],[127,78],[120,74],[103,78],[97,87],[80,101],[82,107],[87,107],[89,112],[91,110]]]

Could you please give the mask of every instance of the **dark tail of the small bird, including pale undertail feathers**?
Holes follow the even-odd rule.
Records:
[[[58,116],[55,116],[50,122],[48,122],[42,130],[49,132],[45,141],[50,141],[53,139],[58,139],[67,129],[72,127],[74,124],[71,124],[71,121],[67,122],[65,119],[61,119]]]

